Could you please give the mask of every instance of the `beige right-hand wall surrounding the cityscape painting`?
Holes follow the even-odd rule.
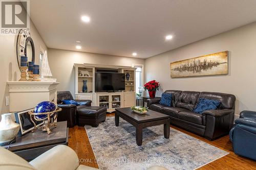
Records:
[[[175,39],[173,39],[175,41]],[[170,62],[229,51],[229,74],[170,78]],[[161,90],[213,91],[236,95],[236,112],[256,111],[256,22],[197,41],[145,60],[145,81],[155,79]]]

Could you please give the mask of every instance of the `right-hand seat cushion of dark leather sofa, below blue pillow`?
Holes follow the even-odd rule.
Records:
[[[178,118],[198,125],[205,124],[205,116],[192,111],[181,111],[178,113]]]

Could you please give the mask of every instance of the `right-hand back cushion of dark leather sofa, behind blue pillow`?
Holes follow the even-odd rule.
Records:
[[[236,96],[234,96],[233,94],[218,92],[201,92],[198,96],[197,103],[199,102],[200,98],[220,101],[221,104],[218,109],[234,109],[234,104],[236,101]]]

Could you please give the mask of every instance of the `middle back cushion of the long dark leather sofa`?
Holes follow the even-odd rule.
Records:
[[[200,92],[198,91],[182,91],[175,107],[193,111],[196,106],[199,93]]]

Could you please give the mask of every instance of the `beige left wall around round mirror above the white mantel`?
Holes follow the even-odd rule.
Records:
[[[33,22],[30,20],[30,33],[35,45],[35,63],[39,64],[39,46],[47,50],[47,46],[37,32]],[[17,81],[20,78],[16,56],[17,36],[0,35],[0,114],[9,112],[9,106],[6,106],[5,96],[9,95],[7,81]],[[22,99],[20,99],[22,100]]]

